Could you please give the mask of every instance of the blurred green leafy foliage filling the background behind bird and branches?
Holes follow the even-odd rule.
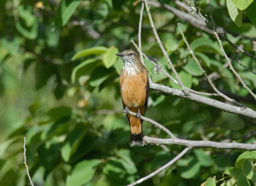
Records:
[[[236,6],[235,1],[232,1]],[[238,1],[237,1],[238,2]],[[163,1],[177,8],[174,1]],[[255,22],[250,6],[239,13],[237,27],[225,1],[210,1],[214,20],[227,38],[253,54]],[[23,159],[35,185],[125,185],[166,164],[181,146],[129,146],[129,125],[122,112],[118,77],[122,60],[114,54],[134,49],[138,41],[140,4],[127,1],[0,1],[0,185],[28,185]],[[198,1],[209,15],[206,1]],[[232,6],[232,5],[230,5]],[[245,8],[244,8],[245,9]],[[173,13],[150,6],[161,41],[180,79],[188,88],[212,92],[184,45],[180,22],[191,49],[207,74],[217,72],[217,88],[256,109],[255,100],[223,65],[212,35],[196,29]],[[229,6],[228,6],[229,10]],[[248,12],[249,11],[249,12]],[[249,20],[251,19],[251,21]],[[234,20],[234,19],[233,19]],[[239,24],[240,26],[240,24]],[[142,50],[172,74],[143,16]],[[250,89],[255,92],[256,63],[227,42],[225,51]],[[153,82],[177,84],[145,60]],[[221,100],[218,97],[212,97]],[[150,91],[148,118],[182,139],[255,141],[255,121],[177,97]],[[168,137],[144,123],[147,136]],[[253,136],[254,134],[254,136]],[[255,184],[255,151],[192,150],[170,169],[141,185]]]

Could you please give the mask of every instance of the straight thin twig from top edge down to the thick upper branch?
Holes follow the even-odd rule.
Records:
[[[149,19],[150,25],[151,25],[151,27],[152,27],[153,33],[154,33],[154,35],[155,35],[155,37],[156,37],[157,43],[159,44],[159,47],[161,48],[161,50],[162,50],[162,52],[163,52],[163,54],[164,54],[164,57],[166,58],[168,64],[169,64],[170,67],[172,68],[172,72],[173,72],[173,74],[175,75],[177,81],[179,82],[180,87],[182,88],[182,90],[184,91],[184,93],[188,94],[188,93],[189,93],[188,89],[186,89],[186,88],[184,87],[182,81],[180,80],[180,77],[179,77],[179,75],[177,74],[177,72],[176,72],[176,70],[175,70],[175,68],[174,68],[174,66],[173,66],[173,64],[172,64],[171,59],[169,58],[169,56],[168,56],[166,50],[165,50],[164,47],[163,47],[163,44],[161,43],[161,40],[160,40],[160,38],[159,38],[159,36],[158,36],[158,34],[157,34],[156,27],[155,27],[155,25],[154,25],[154,22],[153,22],[153,19],[152,19],[150,10],[149,10],[149,6],[148,6],[148,1],[147,1],[147,0],[145,0],[145,6],[146,6],[146,9],[147,9],[147,13],[148,13],[148,19]]]

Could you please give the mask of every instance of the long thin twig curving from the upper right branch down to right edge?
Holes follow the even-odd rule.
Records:
[[[236,70],[234,69],[234,67],[231,64],[231,60],[230,58],[228,58],[225,50],[223,49],[223,45],[221,44],[221,40],[219,38],[219,35],[215,32],[214,35],[216,36],[218,43],[220,45],[221,48],[221,52],[223,53],[224,57],[227,59],[228,65],[230,70],[236,75],[237,79],[239,79],[239,81],[241,82],[241,84],[243,84],[243,87],[250,93],[250,95],[252,95],[253,98],[255,98],[256,100],[256,95],[248,88],[248,86],[246,86],[246,84],[244,83],[243,79],[241,79],[240,75],[237,74]]]

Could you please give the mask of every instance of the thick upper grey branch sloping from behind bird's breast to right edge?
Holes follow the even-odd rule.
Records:
[[[196,95],[195,93],[189,93],[189,95],[186,95],[179,89],[170,88],[168,86],[164,86],[163,84],[157,84],[154,82],[150,83],[150,89],[154,89],[156,91],[159,91],[163,93],[164,95],[174,95],[180,98],[186,98],[189,100],[193,100],[195,102],[209,105],[211,107],[216,107],[218,109],[221,109],[222,111],[231,112],[234,114],[239,114],[242,116],[248,116],[249,118],[256,119],[256,111],[253,111],[250,108],[244,108],[244,107],[237,107],[234,105],[225,104],[223,102],[220,102],[218,100],[214,100],[207,97],[202,97],[200,95]]]

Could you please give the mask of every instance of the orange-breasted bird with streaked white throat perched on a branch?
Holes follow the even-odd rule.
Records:
[[[116,56],[122,57],[124,66],[120,73],[120,93],[124,112],[130,125],[130,146],[143,146],[141,116],[145,116],[148,105],[149,80],[147,68],[134,50],[124,50]],[[137,113],[131,116],[129,111]]]

